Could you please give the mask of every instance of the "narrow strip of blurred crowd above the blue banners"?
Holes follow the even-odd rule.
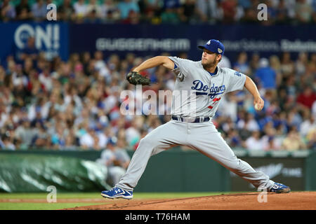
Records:
[[[4,0],[0,20],[46,20],[46,6],[57,6],[57,20],[124,24],[316,22],[316,0]],[[258,20],[265,3],[268,18]],[[50,8],[51,9],[51,8]]]

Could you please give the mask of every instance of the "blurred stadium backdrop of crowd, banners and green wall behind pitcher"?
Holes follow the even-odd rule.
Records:
[[[198,60],[196,46],[210,38],[225,45],[221,66],[253,78],[265,100],[258,113],[247,92],[225,97],[213,119],[225,140],[272,179],[316,189],[315,0],[80,2],[1,1],[0,191],[110,188],[110,166],[98,160],[105,148],[131,156],[170,119],[120,114],[121,90],[134,90],[126,73],[155,55]],[[57,21],[47,21],[48,3],[57,5]],[[268,6],[266,21],[257,18],[259,3]],[[162,67],[143,75],[157,82],[151,90],[173,89],[175,77]],[[188,148],[151,158],[136,190],[192,186],[254,190]]]

